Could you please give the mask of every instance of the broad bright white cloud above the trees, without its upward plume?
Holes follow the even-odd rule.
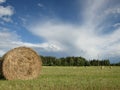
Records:
[[[56,42],[64,53],[69,55],[82,55],[86,58],[105,58],[119,48],[120,29],[112,34],[99,36],[90,28],[76,27],[70,24],[55,24],[47,22],[42,25],[33,25],[30,31],[47,41]],[[115,43],[116,42],[116,43]],[[119,50],[119,49],[118,49]],[[117,50],[117,51],[118,51]]]

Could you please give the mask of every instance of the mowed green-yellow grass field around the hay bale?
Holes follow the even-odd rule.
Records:
[[[0,80],[0,90],[120,90],[120,67],[43,66],[34,80]]]

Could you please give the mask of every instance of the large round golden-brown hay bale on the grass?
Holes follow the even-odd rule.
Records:
[[[29,80],[39,76],[42,62],[31,48],[18,47],[3,56],[2,74],[8,80]]]

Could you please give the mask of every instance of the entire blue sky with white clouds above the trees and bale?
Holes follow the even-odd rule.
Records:
[[[120,0],[0,0],[0,56],[18,46],[120,61]]]

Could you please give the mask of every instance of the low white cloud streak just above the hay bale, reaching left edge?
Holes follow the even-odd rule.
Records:
[[[35,48],[40,50],[41,52],[57,52],[60,51],[61,48],[54,44],[54,42],[48,43],[28,43],[23,42],[20,39],[20,36],[17,35],[15,32],[11,32],[7,28],[0,28],[0,56],[6,53],[8,50],[18,47],[18,46],[27,46],[31,48]]]

